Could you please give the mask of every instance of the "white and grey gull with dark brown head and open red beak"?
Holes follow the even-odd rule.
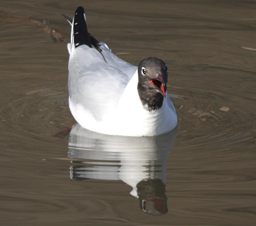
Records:
[[[138,67],[131,65],[88,33],[83,7],[74,19],[63,16],[72,26],[68,90],[77,123],[102,134],[135,137],[165,134],[177,126],[165,62],[148,57]]]

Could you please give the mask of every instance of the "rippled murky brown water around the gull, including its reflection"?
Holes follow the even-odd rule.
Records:
[[[124,60],[167,63],[177,131],[125,138],[75,126],[52,137],[75,121],[68,40],[47,29],[69,36],[60,13],[80,5],[90,33]],[[0,6],[1,225],[255,225],[255,1]]]

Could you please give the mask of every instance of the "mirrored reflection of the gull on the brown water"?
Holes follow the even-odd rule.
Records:
[[[76,124],[69,136],[68,157],[79,165],[71,167],[71,178],[122,180],[132,187],[130,194],[144,212],[164,215],[166,159],[176,134],[177,128],[155,137],[111,136]]]

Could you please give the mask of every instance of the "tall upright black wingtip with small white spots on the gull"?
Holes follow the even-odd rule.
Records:
[[[75,48],[79,47],[80,45],[88,45],[90,48],[92,47],[91,39],[85,22],[85,10],[81,6],[79,6],[75,11],[73,35]]]

